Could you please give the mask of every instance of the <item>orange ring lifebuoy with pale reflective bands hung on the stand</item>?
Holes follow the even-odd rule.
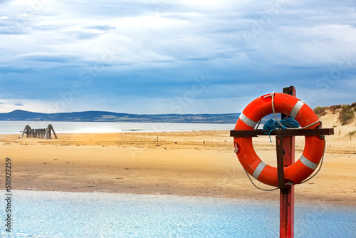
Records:
[[[301,127],[318,122],[314,111],[298,98],[285,93],[275,93],[272,97],[263,95],[249,103],[242,111],[234,130],[254,130],[261,118],[273,113],[289,115],[298,121]],[[317,128],[321,123],[315,123],[310,129]],[[266,185],[278,186],[277,167],[266,165],[253,149],[252,138],[234,138],[236,155],[246,172]],[[318,166],[324,153],[325,140],[320,136],[305,136],[303,154],[293,165],[284,167],[285,181],[298,184],[309,177]]]

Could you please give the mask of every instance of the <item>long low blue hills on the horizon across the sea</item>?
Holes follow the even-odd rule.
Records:
[[[79,122],[135,122],[135,123],[236,123],[240,113],[227,114],[128,114],[105,111],[75,113],[33,113],[14,110],[0,113],[0,120],[79,121]]]

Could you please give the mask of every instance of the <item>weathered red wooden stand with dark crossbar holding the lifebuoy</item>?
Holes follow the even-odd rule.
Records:
[[[283,88],[283,93],[295,96],[295,88]],[[282,115],[282,119],[288,115]],[[231,137],[256,137],[266,135],[268,130],[231,130]],[[292,165],[295,161],[296,135],[334,135],[333,128],[305,129],[305,130],[274,130],[270,135],[276,135],[278,188],[280,189],[280,237],[294,237],[294,185],[286,185],[284,180],[284,167]]]

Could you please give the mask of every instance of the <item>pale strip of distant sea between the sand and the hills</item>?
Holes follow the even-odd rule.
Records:
[[[14,134],[31,128],[47,128],[53,125],[56,133],[120,133],[134,131],[192,131],[192,130],[234,130],[234,124],[215,123],[86,123],[86,122],[38,122],[0,121],[0,134]]]

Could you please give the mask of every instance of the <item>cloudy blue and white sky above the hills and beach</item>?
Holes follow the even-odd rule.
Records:
[[[356,1],[0,0],[0,113],[356,101]]]

